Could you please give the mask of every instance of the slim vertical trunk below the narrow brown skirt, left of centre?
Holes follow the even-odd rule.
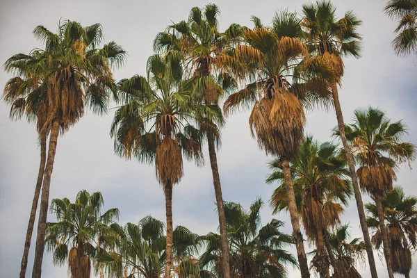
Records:
[[[167,215],[167,244],[165,247],[165,278],[171,277],[172,264],[172,182],[165,184],[165,210]]]

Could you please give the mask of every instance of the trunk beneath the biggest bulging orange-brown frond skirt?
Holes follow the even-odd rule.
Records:
[[[297,250],[298,264],[302,278],[309,278],[309,265],[307,264],[306,252],[304,250],[304,240],[300,230],[300,220],[298,218],[297,204],[295,204],[295,195],[293,188],[293,179],[291,178],[290,163],[288,160],[282,161],[284,172],[284,181],[286,186],[286,194],[288,198],[288,210],[290,211],[291,224],[293,225],[293,240],[295,241],[295,249]]]

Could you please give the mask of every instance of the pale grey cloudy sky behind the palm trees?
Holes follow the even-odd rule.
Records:
[[[221,10],[220,29],[231,23],[252,26],[251,15],[264,24],[272,22],[273,15],[287,8],[300,13],[305,0],[286,1],[213,1]],[[359,33],[363,35],[363,52],[359,59],[345,59],[345,76],[340,90],[345,122],[352,122],[355,108],[375,106],[393,120],[404,120],[409,126],[405,140],[417,142],[417,79],[416,56],[399,58],[391,49],[395,22],[383,13],[382,0],[332,1],[338,17],[353,10],[363,20]],[[114,40],[122,45],[129,56],[127,63],[115,71],[115,79],[145,74],[147,58],[153,54],[152,42],[156,33],[172,22],[187,19],[194,6],[203,7],[207,1],[92,1],[92,0],[0,0],[0,63],[19,52],[28,53],[41,47],[32,35],[33,28],[43,25],[52,31],[60,19],[71,19],[90,25],[102,24],[106,42]],[[12,76],[0,71],[0,86]],[[38,175],[40,147],[33,124],[25,120],[13,122],[8,118],[10,107],[0,102],[0,277],[17,277],[33,190]],[[74,200],[79,190],[100,191],[105,207],[120,209],[120,223],[138,222],[146,215],[165,220],[164,195],[155,179],[154,167],[126,161],[113,152],[109,136],[114,110],[99,117],[87,113],[65,136],[58,138],[54,172],[51,178],[50,198],[68,197]],[[258,149],[250,136],[249,113],[227,118],[222,130],[222,147],[218,153],[223,198],[240,202],[245,208],[261,197],[265,206],[262,222],[272,218],[286,222],[282,231],[291,234],[291,222],[286,213],[272,215],[268,206],[274,186],[265,184],[270,157]],[[334,111],[309,111],[306,133],[321,141],[332,140],[331,129],[336,126]],[[206,147],[205,147],[206,149]],[[406,193],[417,195],[415,184],[417,163],[401,167],[399,184]],[[364,202],[369,197],[363,196]],[[216,231],[213,180],[206,151],[206,165],[184,165],[184,177],[174,187],[174,226],[183,225],[197,234]],[[53,215],[48,220],[54,220]],[[38,220],[36,220],[38,222]],[[343,223],[350,224],[352,238],[361,237],[361,229],[354,200],[345,209]],[[36,226],[35,226],[36,231]],[[28,260],[26,277],[33,267],[35,232]],[[307,245],[307,251],[311,247]],[[295,254],[295,249],[291,250]],[[388,277],[382,255],[374,252],[380,278]],[[417,261],[417,256],[414,256]],[[288,277],[300,277],[300,272],[288,267]],[[367,265],[359,266],[364,278],[370,277]],[[44,278],[66,277],[67,266],[54,266],[51,254],[45,251],[42,265]],[[398,275],[400,277],[400,275]],[[411,271],[417,277],[417,268]]]

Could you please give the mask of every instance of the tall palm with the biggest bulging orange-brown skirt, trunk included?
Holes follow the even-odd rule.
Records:
[[[224,59],[234,76],[250,83],[227,98],[224,113],[253,107],[249,120],[252,136],[267,154],[279,157],[300,270],[303,278],[309,277],[289,161],[297,155],[303,136],[304,107],[328,100],[324,77],[331,76],[320,60],[309,59],[306,45],[297,38],[302,31],[295,13],[277,14],[272,27],[253,19],[255,27],[245,31],[245,43]]]

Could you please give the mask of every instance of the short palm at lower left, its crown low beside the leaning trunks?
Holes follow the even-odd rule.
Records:
[[[89,278],[91,261],[99,249],[98,237],[111,234],[108,224],[119,218],[119,210],[110,208],[101,214],[101,193],[81,190],[74,203],[69,199],[52,199],[51,213],[56,223],[47,223],[47,250],[54,253],[54,264],[68,262],[72,278]]]

